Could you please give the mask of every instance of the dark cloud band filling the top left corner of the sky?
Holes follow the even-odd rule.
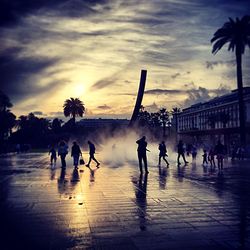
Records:
[[[16,24],[22,17],[41,10],[80,17],[95,12],[91,7],[105,0],[0,0],[0,26]]]

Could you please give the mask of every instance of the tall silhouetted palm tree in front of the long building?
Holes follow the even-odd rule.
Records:
[[[246,46],[250,47],[250,16],[246,15],[241,19],[236,18],[236,20],[229,18],[229,21],[214,33],[211,43],[214,43],[212,49],[213,54],[216,54],[226,43],[229,43],[229,51],[235,51],[239,99],[240,141],[242,145],[245,145],[246,128],[243,100],[242,54],[244,54]]]

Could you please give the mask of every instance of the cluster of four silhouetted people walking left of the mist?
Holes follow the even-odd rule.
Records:
[[[93,160],[96,162],[96,167],[99,168],[100,162],[97,161],[97,159],[95,158],[95,145],[91,141],[88,141],[88,146],[89,146],[89,161],[86,164],[86,166],[90,167],[90,163]],[[65,169],[66,168],[66,156],[68,153],[69,153],[69,147],[64,140],[59,142],[57,152],[56,152],[56,148],[52,146],[49,150],[51,164],[55,164],[57,160],[57,156],[59,156],[61,158],[62,168]],[[73,158],[73,165],[76,169],[78,168],[79,162],[84,164],[81,148],[77,144],[76,141],[73,142],[73,145],[71,147],[71,157]]]

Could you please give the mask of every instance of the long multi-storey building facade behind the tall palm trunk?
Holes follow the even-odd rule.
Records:
[[[245,87],[243,93],[247,142],[249,143],[250,87]],[[237,90],[183,109],[178,114],[177,121],[177,131],[180,137],[190,137],[196,141],[205,139],[212,142],[220,138],[227,144],[239,143],[240,128]]]

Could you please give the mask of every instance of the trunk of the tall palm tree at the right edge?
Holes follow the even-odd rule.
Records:
[[[240,120],[240,143],[242,146],[246,144],[246,124],[245,124],[245,107],[243,99],[243,81],[242,81],[242,54],[240,46],[236,47],[236,64],[237,64],[237,86],[239,99],[239,120]]]

